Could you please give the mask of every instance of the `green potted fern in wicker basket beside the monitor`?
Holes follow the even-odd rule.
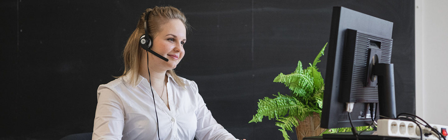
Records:
[[[306,69],[302,68],[302,62],[299,61],[296,70],[288,75],[280,73],[274,82],[280,82],[286,85],[290,90],[290,95],[280,94],[275,98],[265,97],[258,102],[257,114],[255,114],[249,123],[262,122],[264,116],[268,119],[275,118],[276,126],[281,129],[285,140],[289,140],[286,130],[293,132],[296,128],[297,137],[302,140],[304,136],[317,136],[326,129],[320,128],[320,114],[322,112],[322,99],[324,83],[316,64],[320,62],[319,58],[327,44],[322,48]],[[300,126],[300,127],[298,127]],[[301,128],[310,126],[308,128]],[[307,129],[307,130],[299,130]]]

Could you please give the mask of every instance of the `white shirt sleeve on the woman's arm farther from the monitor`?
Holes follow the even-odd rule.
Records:
[[[111,89],[99,87],[92,140],[121,140],[124,109],[121,99]]]

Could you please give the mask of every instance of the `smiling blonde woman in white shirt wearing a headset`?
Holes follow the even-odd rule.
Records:
[[[174,7],[142,13],[123,52],[123,75],[98,88],[93,140],[236,140],[213,119],[196,83],[172,70],[184,57],[188,27]]]

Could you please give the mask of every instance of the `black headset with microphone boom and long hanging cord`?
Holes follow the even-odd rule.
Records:
[[[152,10],[151,10],[151,11],[152,11]],[[149,28],[146,27],[146,22],[148,22],[148,17],[149,17],[149,14],[151,13],[151,11],[147,12],[146,15],[145,15],[145,34],[142,35],[142,37],[140,37],[140,46],[141,46],[143,49],[146,50],[146,62],[149,61],[149,60],[148,60],[148,51],[151,52],[151,54],[153,54],[153,55],[159,57],[160,59],[162,59],[162,60],[168,62],[168,59],[167,59],[167,58],[165,58],[165,57],[163,57],[162,55],[159,55],[159,54],[156,53],[155,51],[152,51],[152,50],[151,50],[151,48],[152,48],[152,38],[151,38],[151,36],[149,36],[149,34],[148,34],[148,29],[149,29]],[[149,85],[151,86],[150,88],[151,88],[151,93],[152,93],[152,100],[154,101],[155,118],[156,118],[156,120],[157,120],[157,136],[159,136],[159,140],[160,140],[160,134],[159,134],[159,117],[157,116],[157,109],[156,109],[157,107],[155,106],[155,96],[154,96],[154,92],[152,91],[151,74],[149,74],[149,66],[148,66],[147,68],[148,68],[148,75],[150,76],[150,78],[149,78]]]

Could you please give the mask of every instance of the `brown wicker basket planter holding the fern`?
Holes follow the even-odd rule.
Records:
[[[313,115],[309,115],[303,121],[299,121],[299,125],[296,127],[297,140],[302,140],[308,136],[319,136],[325,130],[320,127],[320,116],[318,113],[313,112]]]

